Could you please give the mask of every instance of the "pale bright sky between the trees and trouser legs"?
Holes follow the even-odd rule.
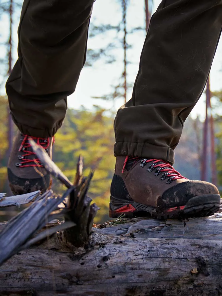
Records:
[[[154,7],[152,12],[155,12],[156,8],[160,4],[159,0],[154,0]],[[114,0],[96,0],[94,3],[93,14],[91,22],[94,24],[104,23],[117,25],[121,20],[121,7]],[[19,21],[19,12],[15,15],[15,21],[13,25],[13,62],[17,59],[17,26]],[[144,0],[130,0],[130,5],[127,11],[127,29],[131,31],[133,27],[145,27],[145,14],[144,14]],[[1,18],[0,28],[0,44],[5,42],[8,38],[8,19],[6,16]],[[141,49],[144,43],[146,31],[140,30],[133,34],[128,34],[127,42],[132,47],[128,50],[128,65],[127,65],[127,80],[133,84],[139,67],[139,58]],[[121,36],[121,33],[118,35]],[[95,38],[89,38],[88,48],[99,49],[102,46],[106,46],[110,42],[118,43],[116,41],[116,33],[108,31],[105,34],[101,34]],[[123,98],[116,99],[115,101],[104,101],[102,99],[93,99],[93,96],[104,96],[112,92],[112,86],[119,83],[121,73],[123,72],[123,50],[121,46],[117,49],[111,50],[115,55],[116,62],[112,64],[104,63],[103,59],[95,62],[93,67],[83,67],[76,90],[74,94],[68,98],[68,106],[74,109],[79,109],[81,106],[86,109],[92,109],[94,105],[99,105],[105,109],[111,109],[112,111],[118,110],[123,105]],[[0,58],[6,54],[4,46],[0,45]],[[219,41],[218,49],[215,54],[213,65],[210,73],[210,85],[211,90],[222,89],[222,38]],[[0,89],[1,94],[5,93],[4,86]],[[131,98],[132,88],[128,89],[127,100]],[[205,114],[205,95],[203,94],[199,102],[194,107],[191,116],[195,118],[200,115],[204,118]]]

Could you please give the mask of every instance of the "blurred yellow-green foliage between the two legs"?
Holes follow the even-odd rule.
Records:
[[[108,213],[110,183],[115,166],[113,144],[113,118],[104,110],[96,112],[68,110],[62,127],[56,133],[53,160],[72,181],[78,156],[83,155],[84,175],[95,170],[89,196],[101,208],[97,221]],[[55,182],[53,190],[61,193],[64,188]]]

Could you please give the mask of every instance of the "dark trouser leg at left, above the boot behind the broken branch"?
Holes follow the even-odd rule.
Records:
[[[85,63],[94,0],[24,0],[18,29],[19,58],[6,83],[20,131],[49,137],[62,125],[67,96]]]

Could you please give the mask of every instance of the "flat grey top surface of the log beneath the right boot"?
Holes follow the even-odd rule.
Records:
[[[96,229],[103,234],[133,236],[135,238],[189,238],[218,239],[222,241],[222,213],[206,218],[192,218],[189,221],[170,219],[141,220],[136,223],[126,223],[105,229]]]

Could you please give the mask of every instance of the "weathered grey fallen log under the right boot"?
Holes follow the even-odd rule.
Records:
[[[221,213],[94,228],[89,243],[72,250],[61,236],[4,263],[0,295],[222,295]]]

